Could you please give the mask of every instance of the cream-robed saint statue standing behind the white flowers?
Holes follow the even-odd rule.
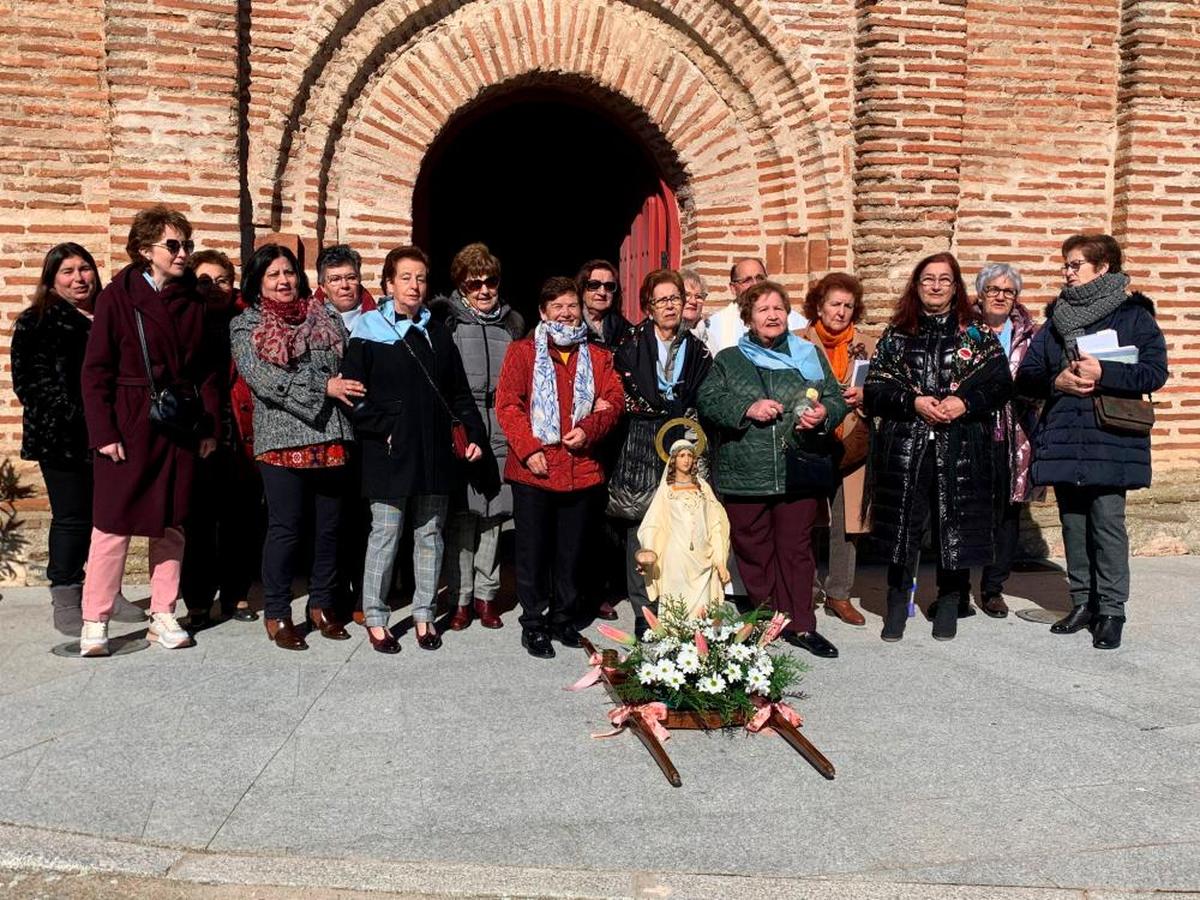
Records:
[[[690,440],[671,445],[662,480],[637,529],[641,550],[635,556],[650,602],[662,596],[683,600],[689,616],[721,602],[730,581],[730,518],[696,472],[696,456],[697,445]]]

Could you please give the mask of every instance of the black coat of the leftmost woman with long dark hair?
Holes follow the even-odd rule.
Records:
[[[66,300],[17,317],[12,388],[25,408],[20,458],[71,464],[91,460],[79,373],[91,320]]]

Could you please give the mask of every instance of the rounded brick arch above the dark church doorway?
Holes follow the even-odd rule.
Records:
[[[280,156],[251,161],[257,221],[374,256],[407,236],[421,158],[461,107],[497,84],[574,78],[676,167],[685,262],[719,274],[733,256],[810,234],[845,260],[847,181],[811,79],[798,84],[769,20],[694,5],[354,5],[329,59],[296,82],[293,131],[272,126]],[[260,134],[270,146],[271,128]]]

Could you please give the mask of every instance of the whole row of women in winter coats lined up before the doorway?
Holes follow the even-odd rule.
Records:
[[[511,517],[522,643],[552,656],[554,641],[580,646],[590,618],[582,563],[607,512],[624,523],[626,593],[644,628],[658,592],[647,595],[637,526],[679,420],[692,440],[707,437],[707,449],[689,443],[689,472],[712,481],[733,547],[712,560],[720,577],[706,590],[733,570],[750,602],[788,616],[794,646],[838,655],[817,630],[815,584],[829,616],[865,624],[851,595],[866,533],[888,554],[884,641],[904,635],[926,524],[934,637],[953,638],[971,614],[976,566],[980,608],[1006,616],[1021,505],[1045,486],[1073,601],[1052,630],[1121,643],[1124,497],[1150,484],[1150,438],[1114,427],[1100,404],[1138,400],[1168,373],[1153,306],[1128,293],[1106,235],[1064,242],[1066,284],[1040,328],[1015,269],[985,266],[972,298],[955,258],[936,253],[914,266],[877,342],[859,329],[860,283],[834,272],[809,290],[799,330],[785,288],[754,283],[738,298],[744,336],[714,356],[694,272],[650,272],[644,318],[630,324],[611,308],[616,266],[590,260],[576,280],[546,282],[526,334],[482,245],[456,256],[455,290],[430,301],[416,247],[386,256],[376,300],[348,248],[319,265],[313,293],[295,256],[271,244],[246,262],[239,296],[229,260],[193,252],[191,232],[164,206],[138,214],[130,264],[103,290],[88,251],[58,245],[13,331],[22,456],[38,462],[52,508],[54,622],[85,656],[108,653],[109,619],[143,616],[120,595],[134,535],[150,539],[148,634],[163,647],[193,640],[175,617],[180,595],[192,625],[218,594],[224,616],[256,618],[247,592],[262,539],[271,641],[346,640],[353,612],[371,646],[394,654],[389,594],[406,527],[413,631],[436,650],[443,577],[450,629],[475,617],[502,626],[498,547]],[[1136,348],[1132,361],[1080,347],[1103,330]],[[292,613],[301,575],[306,626]]]

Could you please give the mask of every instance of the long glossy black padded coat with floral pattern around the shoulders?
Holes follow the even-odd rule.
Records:
[[[992,448],[995,413],[1012,396],[1013,379],[1000,341],[990,330],[960,329],[953,316],[920,316],[917,334],[883,332],[866,376],[864,404],[872,428],[868,502],[871,535],[889,547],[893,563],[920,552],[924,522],[913,515],[925,454],[936,454],[942,565],[965,569],[992,560],[996,515],[1004,496]],[[967,412],[949,425],[917,415],[920,396],[959,397]],[[929,439],[932,430],[934,439]]]

